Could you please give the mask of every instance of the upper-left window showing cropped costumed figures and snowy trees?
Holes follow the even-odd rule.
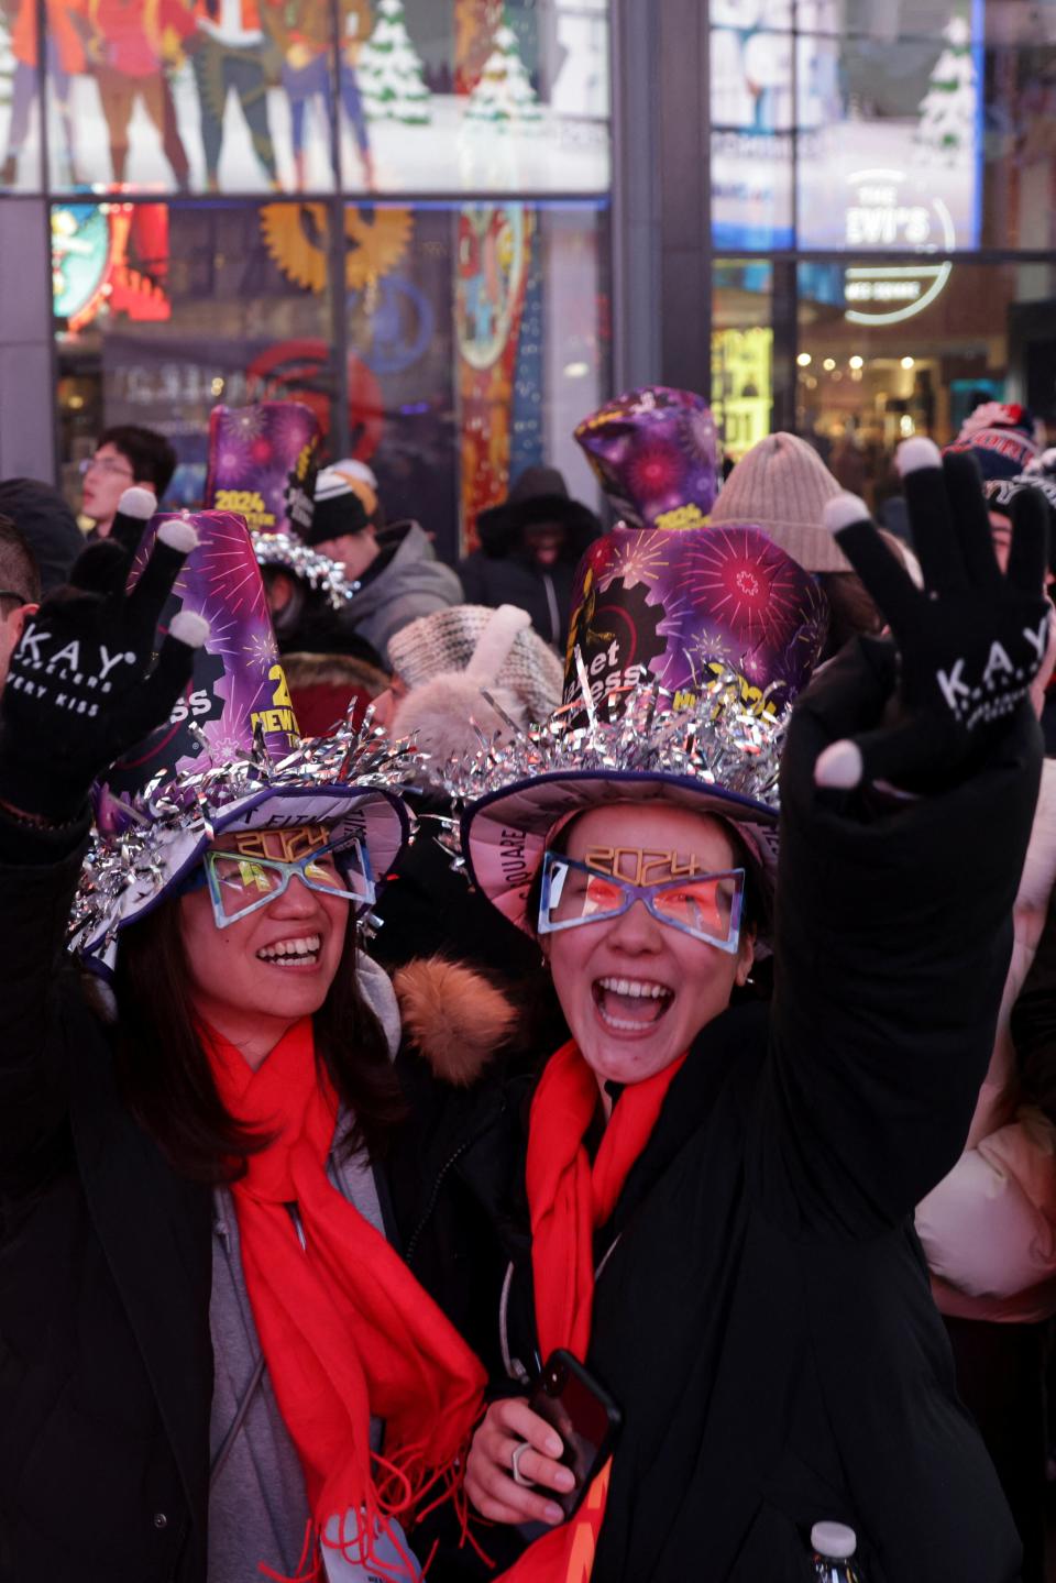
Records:
[[[36,3],[0,8],[0,185],[40,190]],[[610,0],[47,0],[54,192],[602,193]]]

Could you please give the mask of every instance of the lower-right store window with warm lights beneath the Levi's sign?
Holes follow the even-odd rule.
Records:
[[[796,427],[847,489],[883,516],[898,443],[945,445],[986,399],[1026,402],[1056,440],[1056,266],[948,263],[926,306],[876,313],[850,296],[866,269],[798,271]]]

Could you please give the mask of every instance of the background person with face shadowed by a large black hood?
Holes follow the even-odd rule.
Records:
[[[589,507],[572,500],[554,467],[527,467],[507,500],[477,519],[480,549],[459,565],[473,605],[516,605],[564,655],[576,567],[602,533]]]

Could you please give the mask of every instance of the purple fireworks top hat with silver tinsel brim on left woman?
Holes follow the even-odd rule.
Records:
[[[133,567],[146,564],[154,518]],[[209,624],[195,674],[169,720],[114,765],[93,795],[97,836],[81,875],[71,943],[112,967],[120,929],[169,898],[225,831],[320,825],[334,850],[358,842],[374,880],[408,836],[399,796],[412,754],[369,727],[302,741],[279,662],[245,522],[190,516],[187,559],[160,627],[177,611]]]

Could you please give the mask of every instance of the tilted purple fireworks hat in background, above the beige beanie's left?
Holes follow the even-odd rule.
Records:
[[[719,494],[716,423],[703,396],[646,385],[576,429],[625,527],[701,527]]]

